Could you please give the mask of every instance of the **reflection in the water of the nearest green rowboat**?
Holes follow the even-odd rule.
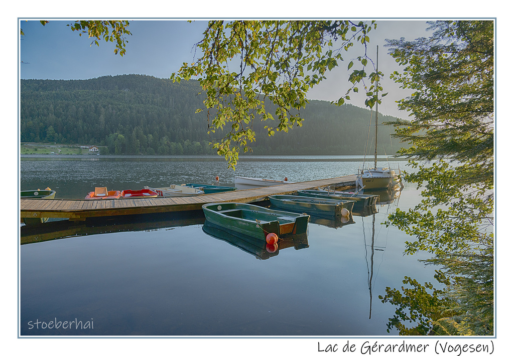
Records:
[[[295,250],[309,247],[307,233],[288,234],[281,237],[277,243],[269,245],[262,239],[225,229],[207,220],[204,223],[203,230],[207,235],[228,242],[257,259],[268,259],[277,256],[280,250],[289,247],[293,247]]]

